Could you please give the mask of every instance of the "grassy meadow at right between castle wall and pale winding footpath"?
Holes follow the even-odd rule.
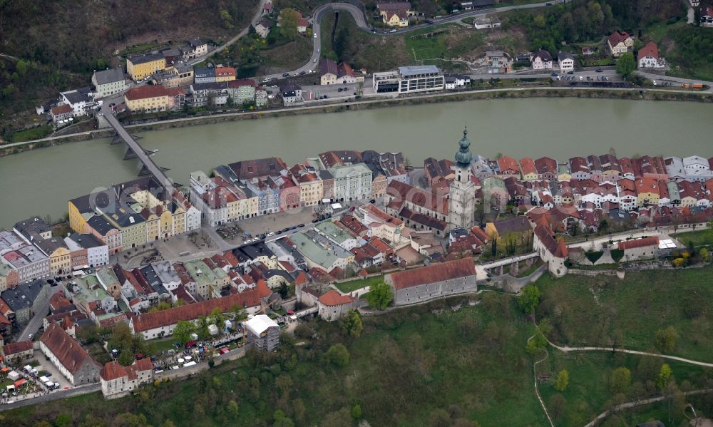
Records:
[[[612,344],[618,336],[620,346],[652,350],[656,331],[673,326],[674,355],[713,362],[712,274],[709,266],[627,273],[623,281],[544,275],[536,282],[543,293],[538,314],[553,324],[553,341],[572,346]]]

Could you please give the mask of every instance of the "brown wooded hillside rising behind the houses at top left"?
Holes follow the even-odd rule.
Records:
[[[90,82],[117,50],[200,36],[220,41],[249,24],[258,0],[0,1],[0,118]],[[14,58],[8,58],[12,56]]]

